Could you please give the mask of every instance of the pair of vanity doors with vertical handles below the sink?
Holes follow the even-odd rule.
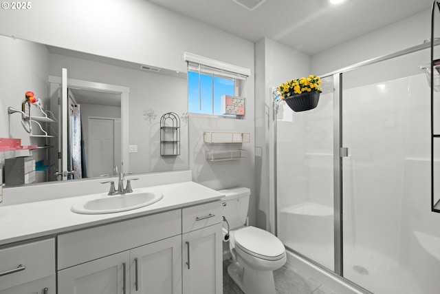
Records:
[[[58,273],[58,293],[181,293],[181,236],[72,266]]]

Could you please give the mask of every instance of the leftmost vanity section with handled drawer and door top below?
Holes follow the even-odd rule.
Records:
[[[55,294],[54,238],[0,249],[0,294]]]

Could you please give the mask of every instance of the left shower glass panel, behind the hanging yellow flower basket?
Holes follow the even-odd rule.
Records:
[[[278,238],[333,271],[333,76],[322,79],[318,107],[276,117]]]

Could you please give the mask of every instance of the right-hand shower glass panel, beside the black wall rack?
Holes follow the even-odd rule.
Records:
[[[423,277],[439,261],[419,238],[439,235],[429,220],[430,88],[419,70],[429,59],[423,50],[342,76],[343,275],[373,293],[439,291]]]

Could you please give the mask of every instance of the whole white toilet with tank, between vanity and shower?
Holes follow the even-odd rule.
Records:
[[[271,233],[245,227],[250,189],[237,187],[219,191],[225,194],[223,228],[230,231],[232,264],[228,274],[245,294],[275,294],[273,271],[286,262],[283,243]]]

